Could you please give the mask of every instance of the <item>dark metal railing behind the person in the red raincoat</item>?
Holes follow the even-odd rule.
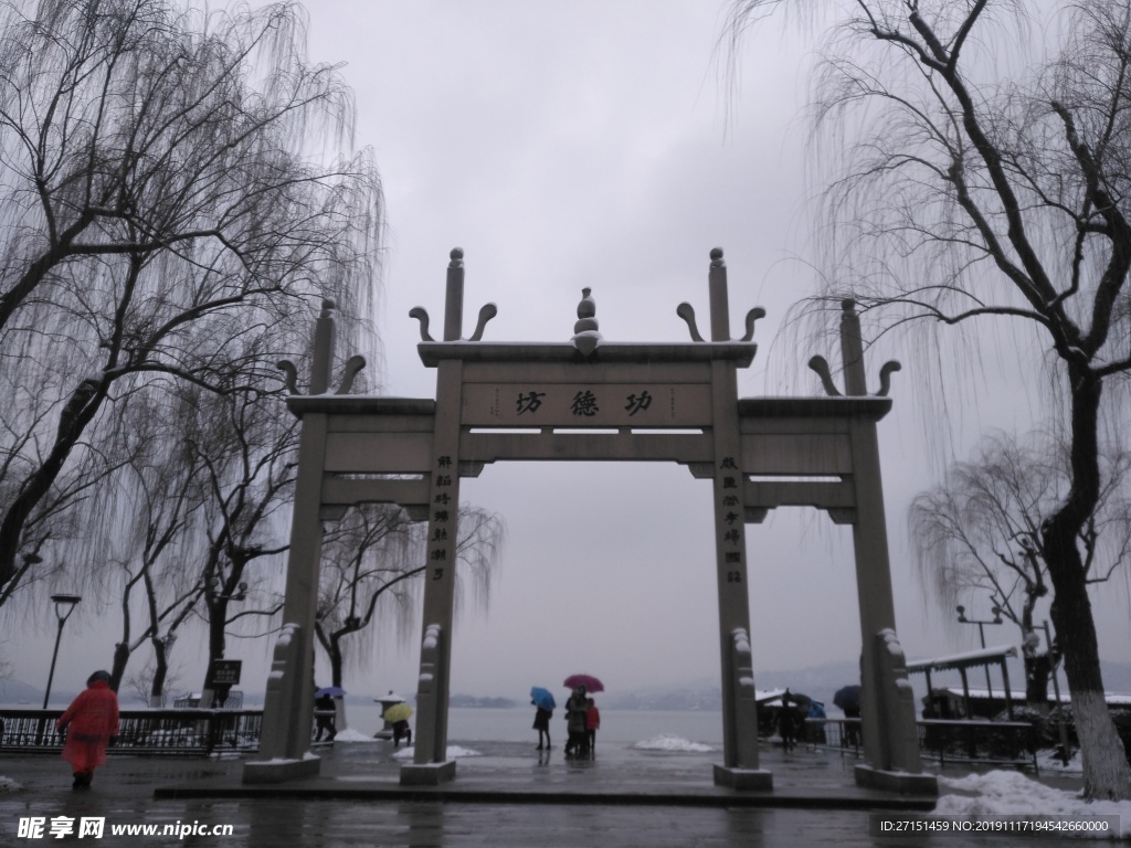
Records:
[[[64,737],[55,730],[62,710],[0,710],[0,751],[55,753]],[[122,710],[110,753],[209,756],[259,750],[262,710]]]

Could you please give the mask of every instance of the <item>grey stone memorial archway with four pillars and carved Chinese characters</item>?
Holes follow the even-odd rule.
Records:
[[[896,639],[880,483],[877,422],[891,408],[865,388],[860,321],[845,302],[841,357],[845,391],[823,358],[810,361],[823,398],[742,398],[737,369],[753,361],[751,310],[745,335],[731,338],[726,266],[711,251],[708,275],[710,340],[693,309],[682,303],[691,341],[615,343],[602,338],[589,289],[567,343],[490,343],[480,310],[475,331],[463,334],[463,252],[448,267],[443,338],[421,325],[421,360],[437,369],[435,399],[349,395],[361,357],[346,363],[331,393],[333,304],[325,304],[314,336],[309,393],[297,393],[288,363],[287,404],[302,418],[302,438],[287,565],[284,629],[267,682],[260,760],[247,763],[245,782],[270,782],[318,772],[309,756],[313,681],[314,607],[322,521],[351,505],[397,503],[428,521],[423,633],[414,762],[403,784],[439,784],[455,777],[446,759],[451,622],[459,481],[506,460],[638,460],[685,465],[711,483],[715,571],[723,685],[723,762],[715,782],[737,789],[772,788],[759,768],[754,674],[750,649],[746,523],[768,510],[809,505],[853,527],[862,634],[863,738],[866,764],[857,782],[900,791],[936,791],[922,773],[915,708]],[[586,432],[597,431],[597,432]],[[650,432],[651,431],[651,432]]]

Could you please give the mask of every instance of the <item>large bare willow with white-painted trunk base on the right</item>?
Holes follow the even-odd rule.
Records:
[[[780,5],[736,0],[732,32]],[[810,3],[839,16],[814,113],[832,142],[820,164],[831,168],[826,278],[838,291],[824,294],[856,298],[873,338],[974,323],[998,344],[1035,339],[1027,370],[1047,372],[1069,452],[1039,547],[1085,793],[1126,798],[1080,538],[1100,496],[1102,424],[1131,371],[1131,5],[1048,7]]]

